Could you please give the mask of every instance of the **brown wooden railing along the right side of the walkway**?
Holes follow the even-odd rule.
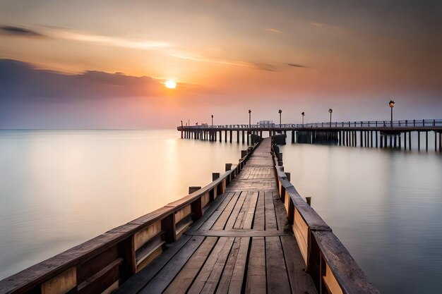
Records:
[[[273,159],[280,199],[318,293],[379,293],[332,229],[290,183],[277,149],[273,148]]]

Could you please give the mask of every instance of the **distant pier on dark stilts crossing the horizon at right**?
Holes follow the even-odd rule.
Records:
[[[268,122],[268,123],[262,123]],[[181,138],[253,144],[264,135],[292,132],[292,143],[335,144],[352,147],[412,149],[442,152],[442,119],[406,121],[341,121],[306,124],[275,124],[261,121],[254,125],[181,125]],[[429,133],[433,133],[429,140]],[[267,136],[266,136],[267,137]]]

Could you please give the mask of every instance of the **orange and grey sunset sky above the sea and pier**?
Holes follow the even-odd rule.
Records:
[[[441,52],[441,1],[0,0],[0,128],[442,118]]]

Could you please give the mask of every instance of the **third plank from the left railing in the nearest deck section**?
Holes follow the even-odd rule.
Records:
[[[193,279],[198,275],[201,267],[205,260],[208,258],[210,251],[213,249],[217,238],[208,237],[205,238],[204,242],[198,247],[189,262],[179,271],[179,274],[174,278],[174,281],[165,290],[164,294],[176,294],[176,293],[186,293]]]

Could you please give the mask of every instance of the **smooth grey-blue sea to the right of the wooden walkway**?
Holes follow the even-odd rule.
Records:
[[[416,142],[411,152],[289,142],[280,152],[292,184],[312,197],[381,293],[441,293],[442,154],[434,146],[426,153]]]

